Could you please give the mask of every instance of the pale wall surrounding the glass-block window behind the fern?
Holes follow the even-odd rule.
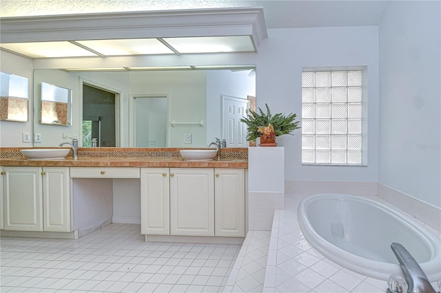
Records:
[[[302,166],[301,130],[278,137],[285,146],[285,180],[376,182],[378,171],[378,29],[369,27],[268,30],[259,47],[257,106],[297,113],[301,120],[302,67],[365,65],[368,68],[367,166]]]

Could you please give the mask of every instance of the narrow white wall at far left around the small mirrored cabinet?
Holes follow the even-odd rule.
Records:
[[[0,146],[32,146],[21,142],[21,133],[32,135],[32,60],[1,51],[0,71],[29,78],[28,122],[0,121]]]

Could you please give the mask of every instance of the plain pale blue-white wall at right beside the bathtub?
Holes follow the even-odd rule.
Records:
[[[441,207],[440,1],[391,1],[379,26],[378,182]]]

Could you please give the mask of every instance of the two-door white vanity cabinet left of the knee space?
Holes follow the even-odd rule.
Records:
[[[3,167],[4,230],[70,232],[68,168]]]

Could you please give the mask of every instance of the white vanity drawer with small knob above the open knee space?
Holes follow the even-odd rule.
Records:
[[[71,178],[139,178],[139,168],[70,168]]]

